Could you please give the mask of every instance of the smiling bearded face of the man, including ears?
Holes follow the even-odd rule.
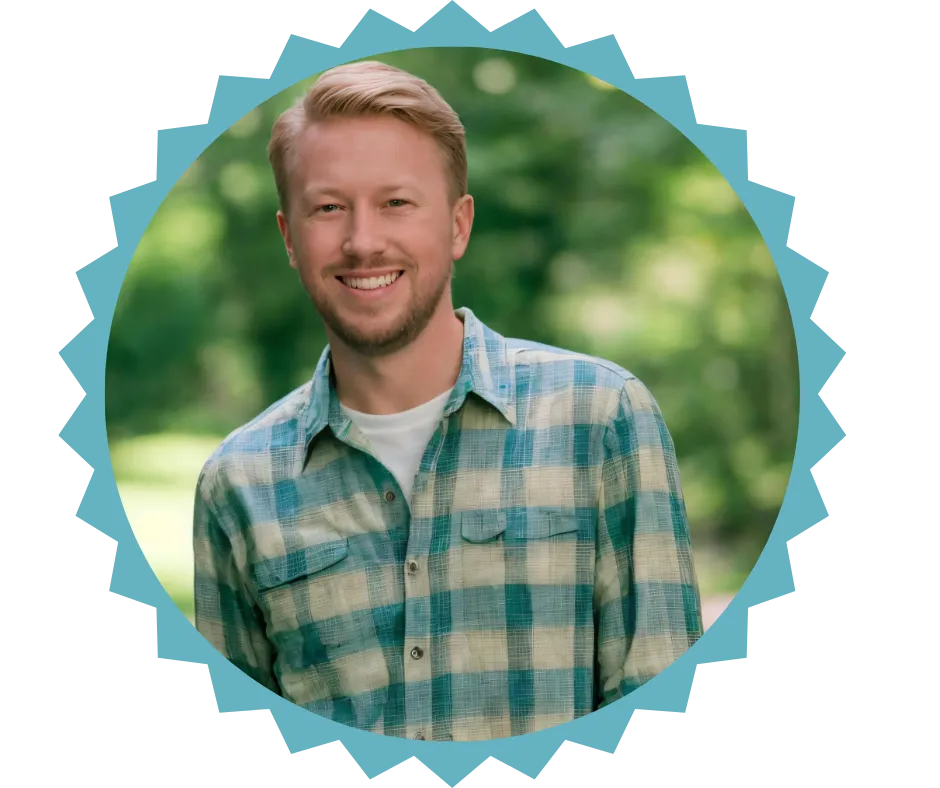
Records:
[[[396,118],[335,119],[304,132],[293,164],[278,224],[334,342],[391,353],[452,308],[452,264],[466,249],[473,201],[451,205],[432,137]]]

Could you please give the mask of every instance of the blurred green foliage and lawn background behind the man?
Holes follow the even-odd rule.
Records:
[[[476,219],[455,304],[505,335],[605,356],[659,401],[711,623],[773,528],[798,421],[789,310],[750,215],[680,132],[586,74],[484,49],[374,59],[427,79],[467,129]],[[190,618],[196,477],[226,434],[310,377],[326,341],[287,264],[266,153],[275,117],[314,78],[193,164],[148,228],[114,316],[119,491]]]

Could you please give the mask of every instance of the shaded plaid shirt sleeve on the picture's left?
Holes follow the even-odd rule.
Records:
[[[239,569],[243,546],[234,521],[232,513],[226,517],[225,510],[214,505],[204,470],[193,515],[196,629],[235,667],[280,695],[264,616]]]

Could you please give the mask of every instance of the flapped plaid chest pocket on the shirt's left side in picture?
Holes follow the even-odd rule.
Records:
[[[254,567],[285,693],[322,705],[388,686],[369,596],[368,567],[336,538]]]

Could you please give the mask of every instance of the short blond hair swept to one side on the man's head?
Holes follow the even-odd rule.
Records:
[[[435,138],[450,180],[451,201],[467,193],[466,134],[460,118],[423,79],[394,66],[366,61],[323,72],[310,90],[281,113],[271,132],[268,160],[281,210],[287,213],[293,145],[316,121],[391,115]]]

